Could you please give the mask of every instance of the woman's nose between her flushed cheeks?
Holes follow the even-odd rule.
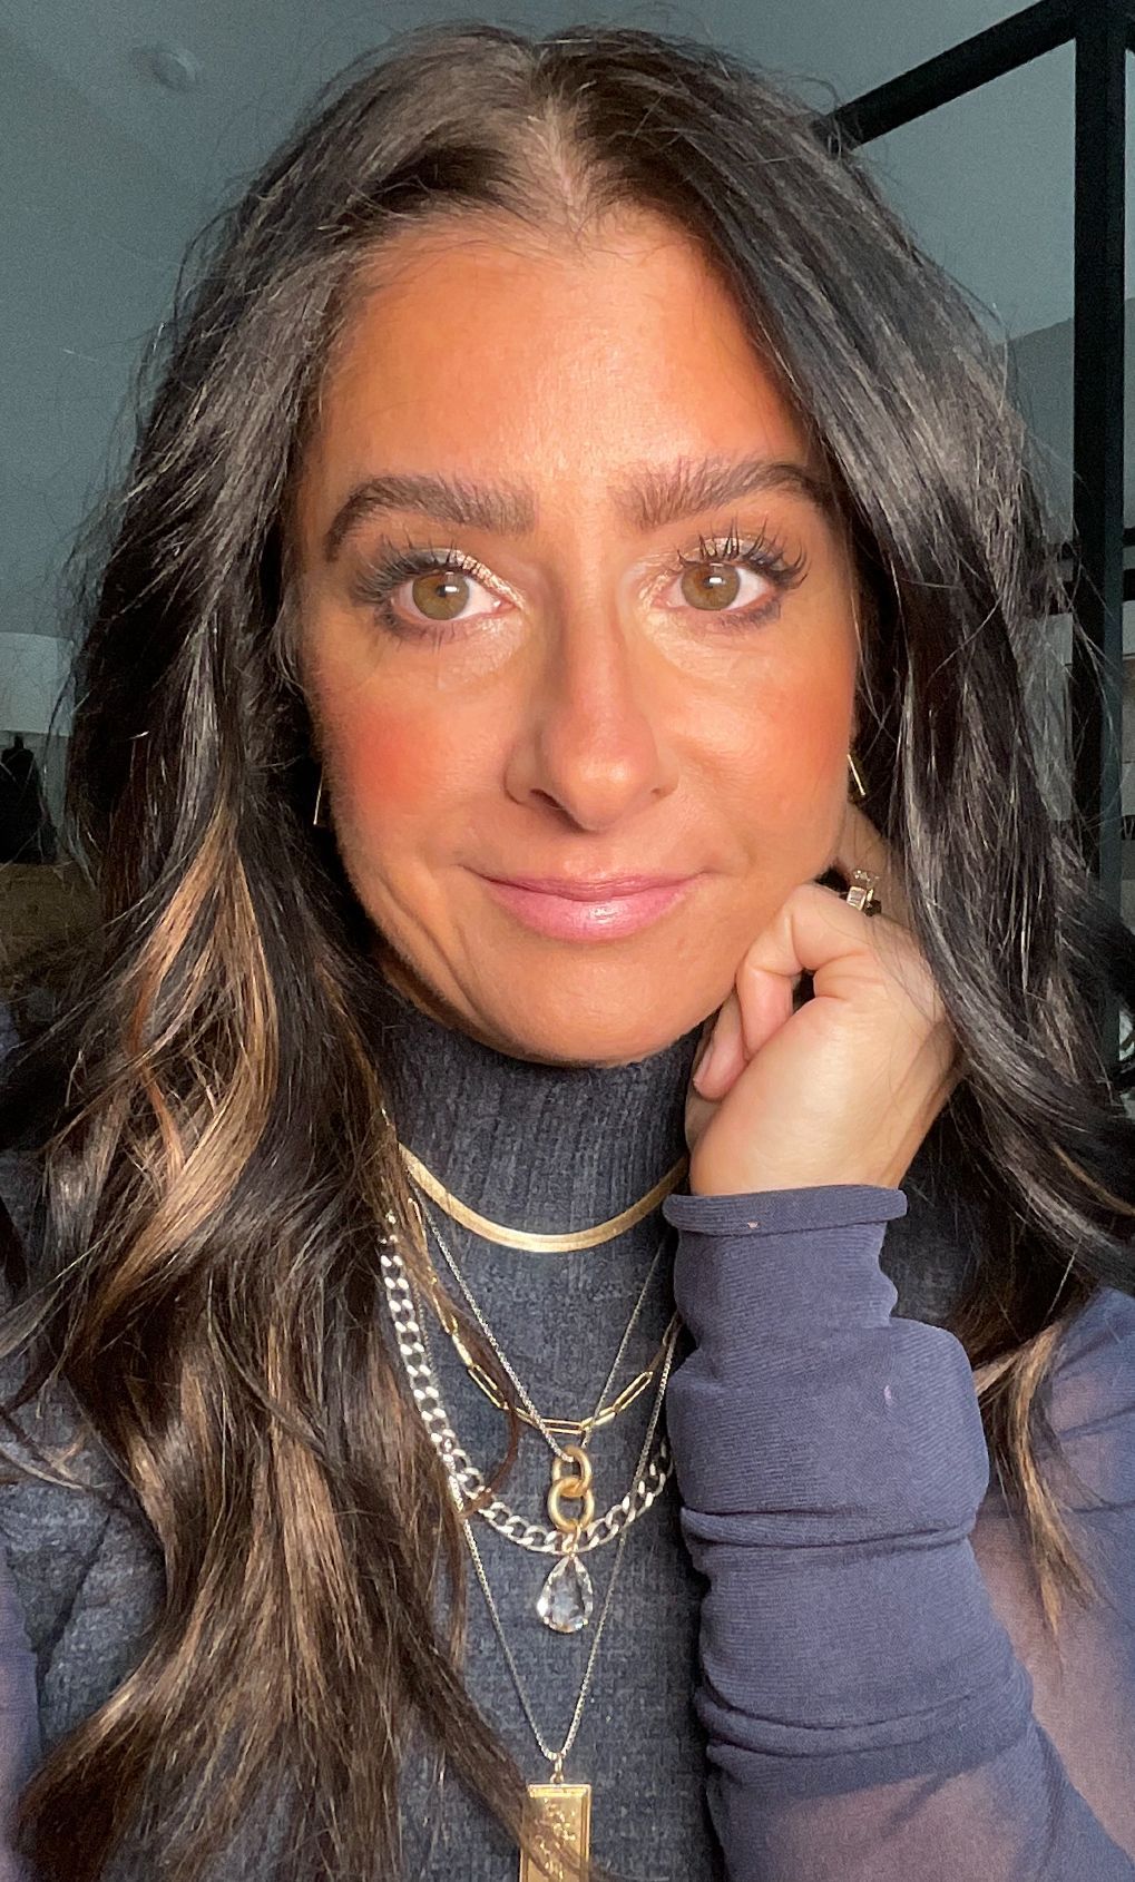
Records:
[[[508,794],[552,802],[580,830],[608,830],[676,785],[664,685],[614,608],[561,610],[521,706]]]

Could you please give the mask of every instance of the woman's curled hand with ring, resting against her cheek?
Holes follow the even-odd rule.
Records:
[[[960,1077],[958,1045],[907,924],[890,853],[855,805],[836,868],[868,869],[883,915],[802,883],[753,941],[685,1101],[695,1195],[898,1188]],[[802,973],[813,997],[792,1011]]]

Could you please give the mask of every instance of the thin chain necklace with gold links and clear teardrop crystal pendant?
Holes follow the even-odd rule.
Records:
[[[544,1581],[544,1587],[540,1588],[540,1594],[536,1598],[536,1613],[538,1613],[540,1620],[544,1622],[544,1626],[552,1628],[555,1634],[578,1634],[580,1628],[587,1626],[587,1622],[591,1619],[593,1605],[595,1605],[595,1596],[593,1596],[593,1588],[591,1588],[591,1575],[587,1573],[587,1570],[583,1568],[583,1564],[578,1560],[578,1555],[580,1555],[580,1530],[583,1528],[585,1523],[591,1523],[593,1517],[595,1517],[595,1492],[591,1489],[591,1459],[587,1455],[587,1443],[589,1443],[589,1438],[591,1438],[591,1430],[583,1432],[583,1438],[582,1438],[580,1443],[567,1443],[567,1445],[559,1443],[559,1440],[553,1436],[553,1432],[548,1428],[548,1425],[544,1423],[544,1419],[536,1412],[536,1406],[533,1404],[533,1400],[531,1400],[529,1393],[525,1391],[521,1380],[516,1376],[516,1370],[512,1368],[510,1361],[506,1359],[506,1355],[504,1355],[504,1351],[501,1348],[501,1342],[493,1334],[493,1329],[489,1327],[484,1312],[480,1310],[476,1299],[472,1297],[472,1289],[469,1287],[469,1282],[461,1274],[461,1270],[459,1270],[459,1267],[457,1267],[457,1263],[456,1263],[456,1259],[454,1259],[448,1244],[444,1242],[444,1238],[440,1235],[440,1229],[437,1227],[437,1221],[433,1218],[433,1210],[429,1210],[429,1204],[420,1204],[414,1197],[410,1199],[410,1203],[412,1203],[414,1212],[418,1216],[418,1227],[422,1229],[425,1257],[429,1259],[429,1250],[425,1246],[425,1223],[429,1221],[429,1227],[433,1229],[435,1240],[437,1240],[437,1244],[439,1244],[439,1248],[440,1248],[440,1252],[442,1252],[442,1255],[446,1259],[446,1265],[450,1267],[450,1270],[454,1274],[454,1280],[461,1287],[461,1293],[465,1295],[465,1300],[469,1302],[469,1308],[471,1308],[472,1316],[476,1317],[476,1321],[478,1321],[478,1325],[480,1325],[486,1340],[489,1342],[489,1346],[497,1353],[497,1359],[501,1361],[504,1372],[512,1380],[516,1391],[523,1398],[523,1402],[525,1402],[525,1406],[527,1406],[527,1410],[531,1413],[533,1423],[536,1425],[536,1428],[540,1430],[544,1442],[548,1443],[550,1451],[553,1453],[552,1483],[548,1487],[548,1515],[552,1517],[555,1528],[561,1530],[568,1538],[568,1541],[567,1541],[565,1555],[555,1564],[555,1568],[550,1571],[548,1579]],[[619,1349],[617,1349],[617,1353],[614,1357],[614,1363],[610,1366],[610,1372],[608,1372],[608,1376],[606,1376],[606,1380],[604,1380],[604,1383],[600,1387],[599,1402],[597,1402],[597,1412],[599,1412],[599,1406],[602,1406],[602,1400],[606,1398],[606,1395],[608,1395],[608,1391],[612,1387],[615,1372],[619,1370],[619,1366],[623,1363],[623,1353],[627,1351],[627,1344],[631,1340],[631,1332],[634,1331],[634,1325],[636,1325],[638,1316],[642,1312],[642,1304],[646,1300],[649,1284],[651,1284],[655,1268],[657,1268],[657,1265],[661,1261],[661,1255],[663,1255],[663,1250],[666,1246],[666,1240],[668,1240],[668,1233],[659,1242],[659,1246],[655,1250],[655,1255],[651,1259],[651,1265],[649,1265],[649,1268],[646,1272],[646,1280],[644,1280],[644,1284],[642,1284],[642,1287],[638,1291],[638,1300],[634,1302],[634,1308],[631,1312],[631,1319],[627,1321],[627,1329],[623,1332],[623,1338],[619,1340]],[[674,1319],[678,1319],[678,1316],[674,1316]],[[672,1325],[674,1325],[674,1321],[672,1321]],[[678,1336],[678,1327],[674,1325],[674,1340],[676,1340],[676,1336]],[[670,1353],[674,1351],[674,1340],[670,1342]],[[431,1357],[429,1351],[427,1351],[427,1357]],[[644,1455],[642,1455],[642,1459],[638,1462],[638,1468],[634,1472],[634,1479],[632,1481],[638,1481],[642,1477],[642,1466],[646,1464],[646,1455],[649,1451],[649,1438],[653,1438],[657,1417],[659,1417],[659,1410],[661,1410],[661,1402],[663,1402],[663,1395],[664,1395],[664,1389],[666,1389],[666,1374],[668,1374],[668,1361],[664,1364],[663,1378],[661,1378],[659,1389],[655,1393],[655,1410],[653,1410],[651,1419],[649,1419],[647,1445],[646,1445],[646,1451],[644,1451]],[[567,1470],[563,1466],[567,1466]],[[565,1502],[578,1502],[580,1504],[580,1513],[578,1515],[567,1513],[565,1507],[563,1507]]]

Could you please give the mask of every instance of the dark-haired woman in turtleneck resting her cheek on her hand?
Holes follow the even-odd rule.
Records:
[[[1052,593],[977,322],[742,62],[429,28],[254,181],[8,1088],[38,1876],[1131,1882]]]

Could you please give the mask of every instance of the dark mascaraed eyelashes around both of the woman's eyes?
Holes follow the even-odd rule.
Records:
[[[792,587],[798,587],[807,574],[807,555],[802,550],[798,555],[791,557],[785,544],[766,529],[760,529],[755,536],[742,538],[734,521],[727,536],[708,538],[698,534],[698,550],[695,555],[687,555],[678,550],[661,585],[664,585],[666,578],[672,582],[685,570],[702,566],[745,568],[759,574],[774,589],[772,595],[762,597],[747,608],[695,608],[693,602],[687,604],[689,614],[704,615],[715,630],[725,630],[728,634],[759,627],[762,621],[779,614],[783,595],[787,595]],[[367,557],[365,565],[352,578],[350,593],[356,602],[371,608],[380,627],[393,638],[440,646],[454,640],[471,623],[461,617],[448,621],[429,617],[422,617],[420,623],[407,621],[392,608],[392,595],[405,582],[412,582],[424,574],[444,576],[446,572],[471,576],[499,600],[510,598],[508,593],[503,595],[499,578],[493,576],[493,572],[474,555],[469,555],[456,544],[439,550],[433,544],[416,544],[408,536],[405,544],[397,544],[388,536],[382,536],[376,551]],[[472,619],[486,619],[486,615],[480,614]]]

